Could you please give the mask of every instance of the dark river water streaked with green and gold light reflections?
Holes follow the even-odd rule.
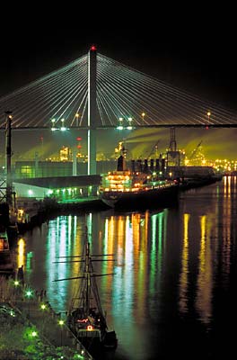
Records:
[[[97,262],[101,303],[118,336],[111,360],[231,359],[236,349],[237,179],[180,194],[161,211],[59,216],[19,238],[26,281],[66,311],[85,226]],[[75,260],[75,258],[73,258]]]

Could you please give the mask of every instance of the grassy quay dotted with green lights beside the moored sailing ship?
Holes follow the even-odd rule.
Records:
[[[33,291],[27,284],[14,281],[12,278],[5,279],[2,277],[0,280],[1,329],[4,329],[5,318],[9,318],[7,323],[10,331],[9,336],[4,334],[3,331],[4,337],[13,336],[11,335],[13,333],[11,324],[13,327],[19,328],[17,338],[12,338],[15,348],[12,350],[11,359],[29,358],[25,357],[26,354],[24,354],[24,351],[28,350],[21,348],[23,344],[19,341],[21,336],[25,337],[26,332],[28,333],[28,342],[30,342],[31,346],[34,345],[35,349],[40,348],[40,351],[43,352],[42,358],[51,355],[63,356],[61,358],[67,360],[75,358],[82,360],[93,359],[80,341],[75,338],[70,329],[67,328],[66,313],[56,313],[50,306],[43,290],[40,292]],[[27,341],[24,343],[26,346]],[[4,355],[1,355],[2,349],[4,347],[0,349],[1,359],[4,358]],[[21,352],[22,357],[19,355]],[[41,360],[41,357],[39,359]]]

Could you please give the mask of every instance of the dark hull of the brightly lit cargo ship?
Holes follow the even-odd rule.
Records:
[[[178,199],[179,185],[153,188],[133,192],[103,192],[101,201],[110,208],[121,210],[138,210],[164,208],[175,204]]]

